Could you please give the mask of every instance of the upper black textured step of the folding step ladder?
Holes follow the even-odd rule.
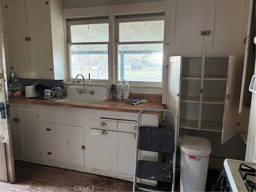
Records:
[[[139,150],[173,153],[174,130],[170,128],[140,126]]]

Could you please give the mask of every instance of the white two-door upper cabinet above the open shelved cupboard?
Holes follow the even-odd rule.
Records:
[[[164,41],[168,55],[244,54],[249,0],[166,3]]]

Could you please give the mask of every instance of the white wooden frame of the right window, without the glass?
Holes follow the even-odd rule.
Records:
[[[155,16],[158,14],[158,16]],[[163,15],[159,15],[163,14]],[[116,18],[120,17],[120,18]],[[114,42],[114,53],[115,57],[114,63],[115,63],[115,82],[119,82],[118,80],[118,45],[120,44],[163,44],[163,58],[162,58],[162,81],[161,82],[142,82],[142,81],[129,81],[130,85],[136,85],[136,86],[163,86],[163,62],[164,62],[164,36],[162,41],[142,41],[142,42],[119,42],[119,23],[120,22],[143,22],[143,21],[154,21],[154,20],[164,20],[165,22],[165,16],[164,13],[152,13],[152,14],[138,14],[138,15],[118,15],[115,17],[115,42]],[[164,30],[164,29],[163,29]]]

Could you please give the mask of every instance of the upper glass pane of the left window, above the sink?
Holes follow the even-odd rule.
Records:
[[[108,42],[108,23],[70,26],[72,43]]]

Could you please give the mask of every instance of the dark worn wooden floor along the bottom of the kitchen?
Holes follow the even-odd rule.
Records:
[[[77,172],[62,168],[45,166],[15,160],[16,183],[0,182],[0,191],[132,191],[132,182]],[[211,191],[219,171],[209,170],[206,191]],[[179,171],[176,172],[175,191],[179,191]],[[153,190],[170,191],[170,183],[160,183],[157,187],[144,186]],[[77,187],[76,187],[77,186]],[[80,190],[81,191],[81,190]]]

